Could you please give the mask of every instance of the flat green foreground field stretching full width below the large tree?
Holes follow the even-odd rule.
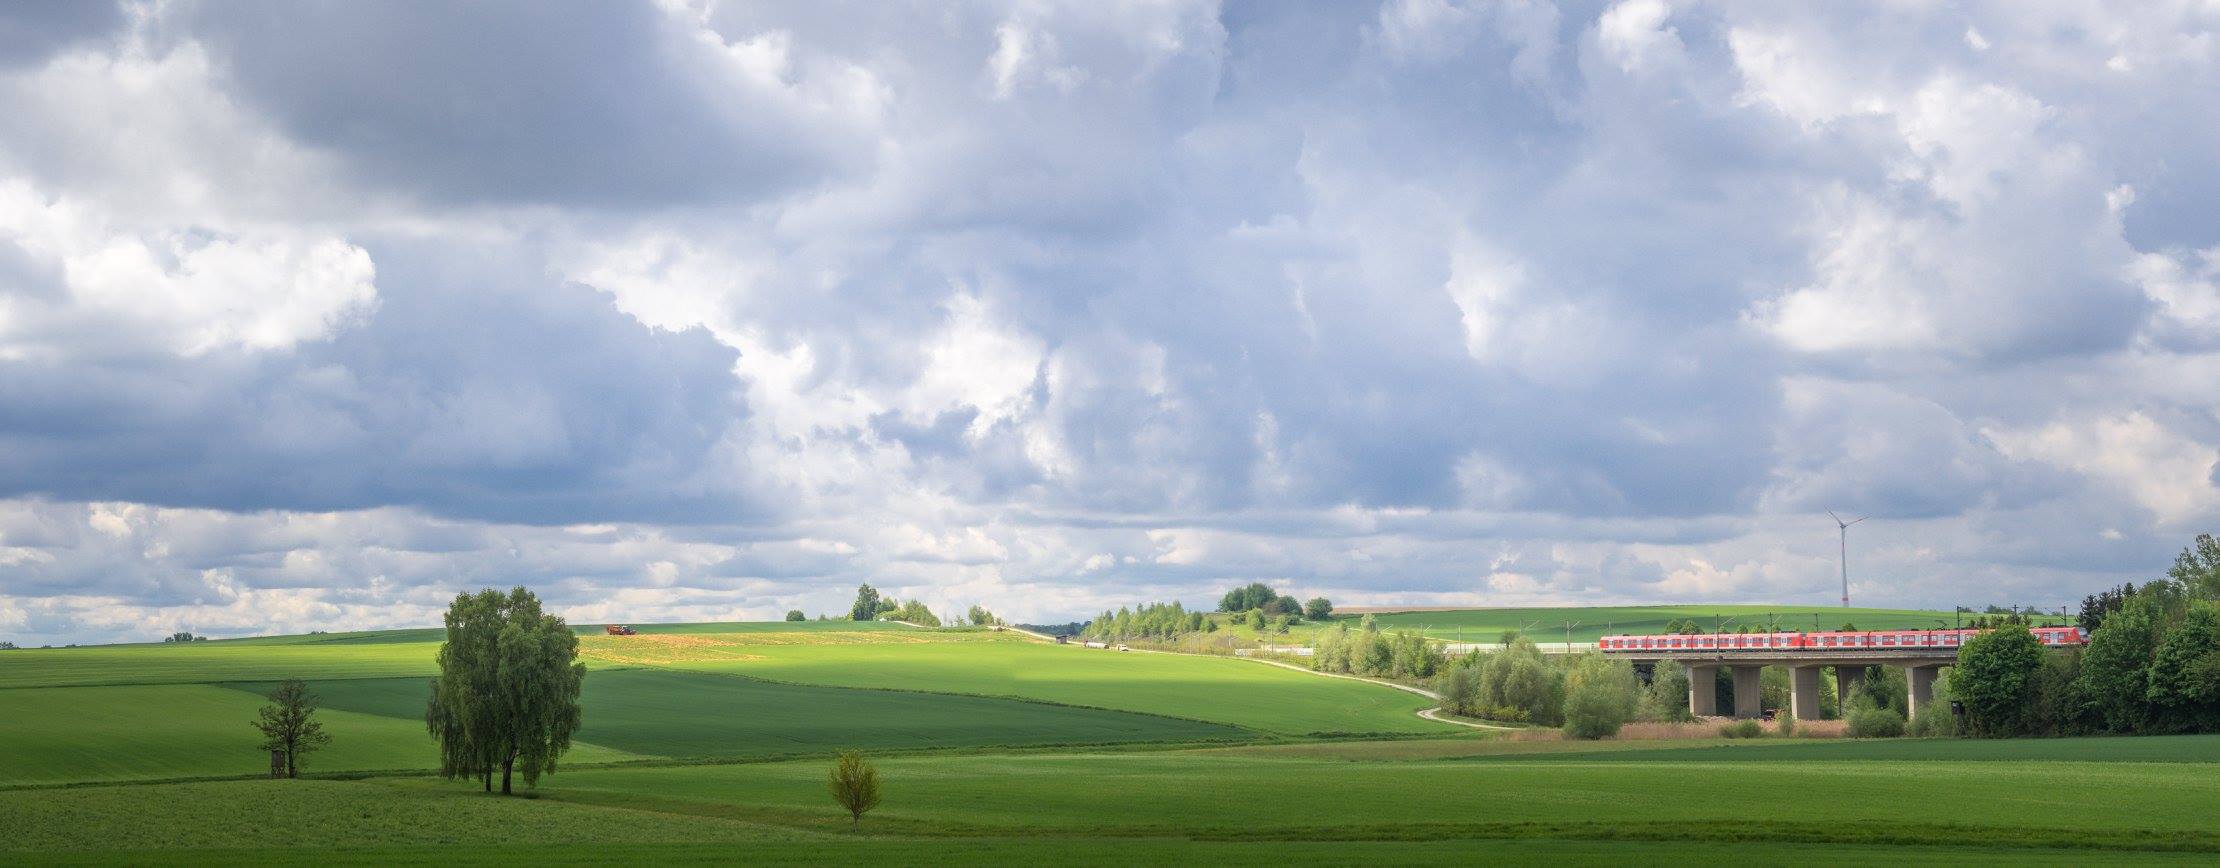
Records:
[[[1234,750],[884,757],[866,835],[813,761],[579,768],[537,799],[433,779],[215,781],[0,793],[0,839],[36,861],[233,861],[295,828],[295,859],[584,859],[657,846],[670,861],[1117,859],[1288,864],[1605,859],[2207,861],[2220,739],[2049,741],[2076,759],[1803,761],[1803,744],[1678,753],[1336,761]],[[1832,748],[1816,744],[1809,748]],[[1692,790],[1694,788],[1694,790]],[[98,832],[91,832],[98,830]],[[440,844],[448,844],[442,848]],[[455,850],[453,846],[462,846]],[[511,850],[511,846],[528,846]],[[562,848],[562,850],[555,850]],[[573,850],[584,848],[584,850]],[[264,852],[269,857],[269,852]],[[360,859],[360,855],[357,855]]]

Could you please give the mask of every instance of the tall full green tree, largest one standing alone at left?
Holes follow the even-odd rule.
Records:
[[[504,795],[519,773],[526,786],[537,786],[571,748],[584,682],[577,635],[562,617],[542,613],[531,591],[457,595],[424,710],[440,741],[440,773],[477,777],[491,793],[500,770]]]

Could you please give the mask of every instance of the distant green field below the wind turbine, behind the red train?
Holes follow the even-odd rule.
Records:
[[[1363,615],[1334,615],[1356,622]],[[1383,628],[1425,633],[1450,642],[1499,642],[1503,630],[1521,630],[1534,642],[1596,642],[1612,633],[1665,633],[1665,624],[1696,619],[1705,630],[1916,630],[1954,626],[1951,613],[1920,608],[1829,608],[1829,606],[1583,606],[1583,608],[1459,608],[1441,613],[1379,613]],[[2056,615],[2051,622],[2065,622]]]

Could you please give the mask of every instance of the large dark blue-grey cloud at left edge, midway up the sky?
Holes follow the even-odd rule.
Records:
[[[444,246],[380,246],[366,322],[293,353],[0,362],[11,495],[224,511],[715,522],[728,346]]]

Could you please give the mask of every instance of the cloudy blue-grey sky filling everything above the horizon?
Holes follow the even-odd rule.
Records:
[[[2209,2],[0,9],[0,639],[2073,604],[2220,526]]]

